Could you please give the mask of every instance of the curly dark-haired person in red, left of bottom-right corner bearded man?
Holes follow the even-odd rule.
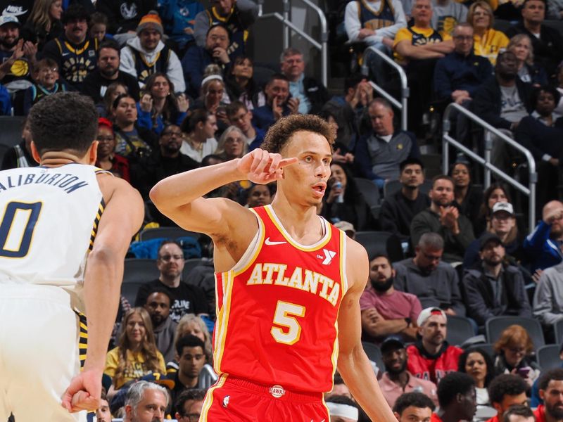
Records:
[[[503,373],[491,381],[488,386],[488,398],[491,405],[496,409],[497,414],[488,419],[487,422],[501,422],[509,407],[514,404],[524,404],[529,406],[526,392],[529,385],[524,378],[512,373]]]

